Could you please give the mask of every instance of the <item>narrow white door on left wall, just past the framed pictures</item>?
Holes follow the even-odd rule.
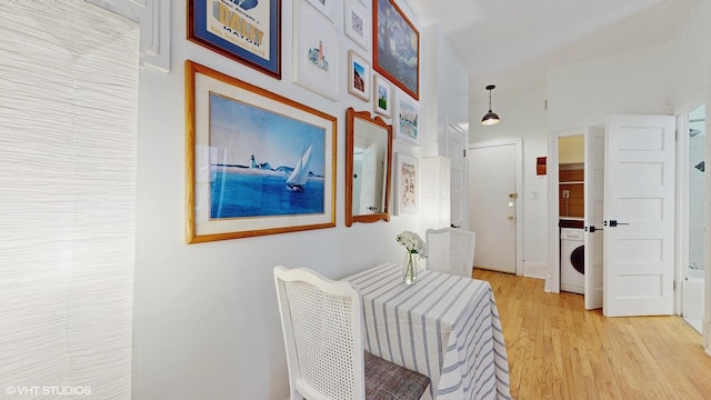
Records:
[[[467,166],[464,150],[467,140],[464,132],[455,126],[447,127],[447,158],[451,160],[450,170],[450,222],[452,228],[464,227]],[[464,227],[469,230],[469,227]]]

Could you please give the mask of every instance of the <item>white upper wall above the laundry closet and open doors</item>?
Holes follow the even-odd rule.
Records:
[[[549,129],[604,124],[610,113],[673,114],[702,101],[711,64],[711,3],[699,1],[665,42],[553,69]]]

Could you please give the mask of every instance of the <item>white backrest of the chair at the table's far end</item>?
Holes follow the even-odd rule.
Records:
[[[428,229],[424,242],[428,269],[471,278],[477,243],[474,232],[454,228]]]

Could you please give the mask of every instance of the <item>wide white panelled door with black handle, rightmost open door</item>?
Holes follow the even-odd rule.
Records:
[[[675,118],[609,116],[603,314],[674,311]]]

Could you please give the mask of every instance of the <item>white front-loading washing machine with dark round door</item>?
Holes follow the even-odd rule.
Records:
[[[585,293],[585,247],[583,230],[560,229],[560,290]]]

